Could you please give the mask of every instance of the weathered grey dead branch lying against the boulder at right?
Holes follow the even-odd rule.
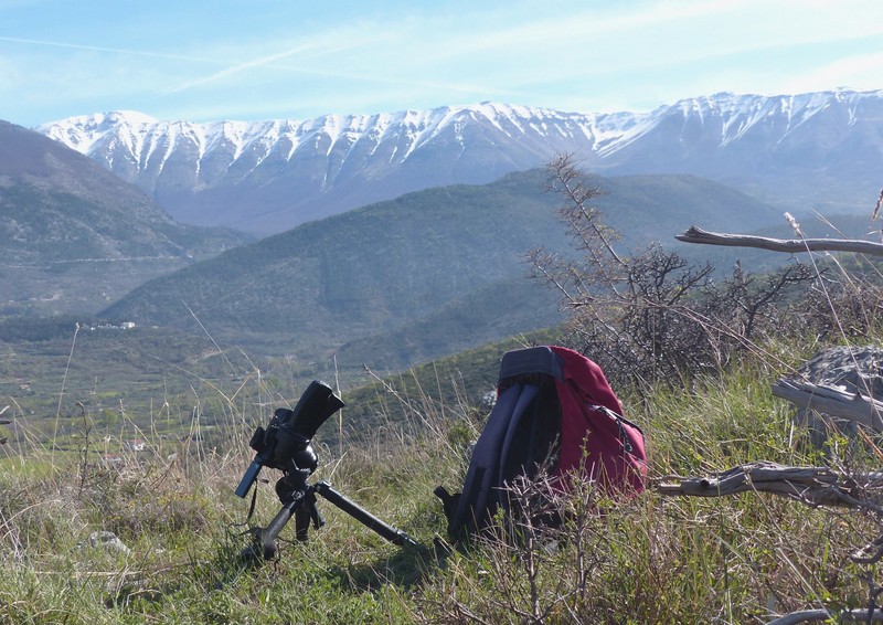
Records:
[[[877,432],[883,431],[883,402],[860,393],[783,379],[773,384],[773,394],[798,407],[848,419]]]

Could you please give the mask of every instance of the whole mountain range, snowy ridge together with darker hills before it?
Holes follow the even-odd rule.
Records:
[[[331,117],[322,118],[309,133],[301,128],[299,148],[291,139],[285,144],[279,130],[286,124],[294,127],[290,123],[195,126],[113,114],[92,117],[97,125],[89,131],[83,119],[68,124],[64,141],[46,136],[57,135],[63,125],[43,134],[3,123],[0,234],[7,243],[0,292],[9,295],[0,315],[86,312],[178,336],[208,331],[213,340],[281,359],[299,375],[316,374],[330,362],[341,373],[361,371],[363,363],[403,370],[563,318],[556,294],[525,279],[531,248],[571,252],[555,215],[558,199],[543,191],[546,173],[541,168],[524,169],[530,163],[542,166],[561,151],[576,153],[588,141],[594,151],[583,166],[602,162],[626,172],[592,174],[588,181],[605,191],[596,204],[624,233],[624,250],[658,240],[680,245],[679,252],[694,259],[712,251],[678,244],[674,234],[691,224],[757,230],[781,221],[781,204],[694,173],[642,173],[643,167],[716,167],[721,176],[745,177],[740,187],[755,194],[764,174],[778,180],[779,190],[789,180],[802,180],[806,193],[812,184],[825,187],[838,171],[843,172],[841,186],[849,176],[873,179],[869,172],[880,162],[874,152],[880,148],[871,145],[881,117],[873,108],[879,94],[795,97],[791,104],[799,106],[794,110],[801,113],[792,110],[784,134],[776,126],[785,123],[777,117],[783,98],[773,108],[762,107],[767,114],[756,110],[738,131],[735,121],[724,123],[735,113],[724,115],[726,107],[714,104],[715,98],[723,96],[701,100],[706,117],[701,125],[691,121],[692,135],[672,121],[677,115],[671,109],[640,119],[598,115],[589,127],[577,121],[591,116],[490,104],[387,116],[386,129],[374,135],[368,118],[363,134],[341,130],[341,119],[334,126]],[[773,106],[774,99],[757,105]],[[740,115],[747,115],[743,109],[749,100],[732,96],[727,102],[732,107],[741,103]],[[680,112],[684,123],[698,115],[690,107]],[[842,124],[843,115],[851,121]],[[372,124],[383,117],[374,116]],[[401,123],[397,130],[393,118]],[[713,139],[715,125],[726,141]],[[338,129],[333,141],[331,127]],[[131,131],[120,142],[124,128]],[[396,133],[398,147],[389,142]],[[224,144],[222,136],[230,141]],[[371,137],[375,147],[368,149]],[[332,148],[305,147],[322,141]],[[749,144],[756,147],[751,155]],[[102,151],[113,145],[116,151]],[[284,145],[289,152],[283,153]],[[809,155],[805,161],[800,150]],[[199,158],[192,160],[194,155]],[[827,165],[819,166],[813,155],[828,155]],[[747,163],[749,156],[756,162]],[[768,170],[765,162],[772,163]],[[321,168],[322,184],[302,184]],[[507,170],[512,171],[500,174]],[[809,178],[808,171],[813,172]],[[139,178],[145,172],[152,176],[149,184]],[[476,181],[445,183],[460,179]],[[175,180],[177,187],[171,184]],[[409,187],[421,189],[398,193]],[[345,202],[334,202],[348,188],[348,202],[374,194],[394,198],[347,210]],[[279,194],[281,189],[290,193]],[[852,192],[863,194],[858,189]],[[158,200],[171,201],[175,193],[181,204]],[[870,195],[875,199],[875,192]],[[248,201],[238,203],[237,197]],[[252,197],[276,198],[277,204],[270,210],[272,202],[256,203]],[[294,205],[291,197],[307,199]],[[258,223],[267,231],[288,221],[297,225],[251,242],[254,236],[241,230],[182,225],[167,212],[192,218],[201,206],[204,214],[191,222],[216,224],[230,218],[253,233],[260,233]],[[243,206],[253,212],[237,212]],[[862,221],[866,226],[866,211]],[[728,253],[716,263],[724,271],[734,257],[745,256]]]

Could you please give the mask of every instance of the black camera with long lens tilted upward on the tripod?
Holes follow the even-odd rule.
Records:
[[[287,476],[309,477],[318,466],[310,441],[322,423],[343,405],[328,384],[316,380],[304,391],[294,410],[277,409],[267,427],[257,426],[252,435],[248,446],[257,454],[243,475],[236,496],[248,494],[265,466]]]

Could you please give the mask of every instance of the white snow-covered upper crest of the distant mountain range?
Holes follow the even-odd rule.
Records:
[[[317,141],[331,147],[340,141],[355,145],[363,140],[381,141],[404,137],[409,146],[406,155],[422,145],[455,128],[457,136],[468,125],[489,125],[510,138],[531,134],[557,134],[562,137],[585,137],[606,153],[617,144],[628,144],[636,136],[651,130],[660,120],[671,116],[720,120],[726,130],[721,145],[726,145],[744,134],[747,128],[764,120],[784,119],[786,126],[799,125],[832,105],[854,107],[868,98],[880,99],[883,91],[821,92],[788,96],[736,95],[719,93],[712,96],[682,99],[651,113],[563,113],[560,110],[483,102],[467,106],[445,106],[428,110],[402,110],[374,115],[326,115],[309,120],[216,121],[194,124],[188,121],[160,121],[134,110],[119,110],[91,116],[70,117],[35,128],[67,147],[95,156],[106,149],[111,138],[123,140],[132,150],[137,162],[147,159],[142,149],[156,149],[158,137],[174,150],[179,141],[199,148],[203,158],[222,146],[234,147],[234,158],[249,148],[264,147],[272,151],[279,141],[289,142],[288,158],[301,146]],[[855,116],[853,116],[854,118]],[[149,138],[149,140],[148,140]],[[405,155],[400,155],[404,157]]]

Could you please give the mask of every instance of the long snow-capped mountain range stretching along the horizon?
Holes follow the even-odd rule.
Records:
[[[723,93],[613,114],[483,103],[191,124],[118,112],[35,130],[137,184],[182,222],[259,233],[427,187],[488,182],[562,152],[598,173],[694,173],[841,212],[864,210],[883,184],[883,91]]]

